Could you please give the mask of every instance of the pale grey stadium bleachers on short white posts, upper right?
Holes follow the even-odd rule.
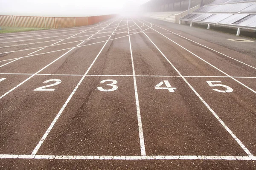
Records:
[[[256,0],[215,0],[180,18],[182,21],[256,30]]]

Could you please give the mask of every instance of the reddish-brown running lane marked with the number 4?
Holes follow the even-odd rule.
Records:
[[[150,39],[152,36],[148,35]],[[165,49],[163,42],[158,44],[158,41],[153,41],[154,37],[151,42],[148,37],[144,35],[144,44],[153,45],[154,42],[160,49]],[[136,43],[133,48],[137,48]],[[155,46],[153,48],[158,51]],[[168,58],[175,57],[165,50],[163,52]],[[161,54],[160,51],[158,53]],[[162,54],[157,57],[165,59]],[[166,59],[163,61],[166,63],[163,68],[171,68],[171,75],[178,75]],[[154,64],[152,68],[143,69],[152,72],[159,65],[157,62]],[[246,155],[181,77],[137,77],[137,82],[147,154]]]

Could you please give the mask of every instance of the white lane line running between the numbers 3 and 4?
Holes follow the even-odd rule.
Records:
[[[136,108],[137,108],[138,129],[139,129],[139,136],[140,136],[140,153],[142,156],[145,156],[146,151],[145,151],[144,135],[143,135],[143,128],[142,128],[142,120],[140,115],[140,102],[139,102],[137,82],[135,77],[134,60],[133,60],[132,49],[131,49],[131,38],[130,38],[129,28],[128,28],[128,35],[129,35],[128,37],[129,37],[129,45],[130,45],[130,53],[131,53],[132,74],[134,79],[134,93],[135,93],[135,101],[136,101]]]

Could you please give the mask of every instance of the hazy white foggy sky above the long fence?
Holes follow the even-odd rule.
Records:
[[[137,11],[148,0],[0,0],[0,15],[85,17]]]

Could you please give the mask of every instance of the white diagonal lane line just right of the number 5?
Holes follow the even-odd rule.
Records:
[[[139,21],[139,20],[138,20]],[[152,25],[152,24],[151,24]],[[146,25],[147,26],[147,25]],[[149,27],[149,26],[148,26]],[[154,28],[151,28],[154,31],[158,32],[157,30],[155,30]],[[159,33],[159,32],[158,32]],[[159,33],[161,34],[161,33]],[[161,34],[163,37],[166,37],[165,35]],[[207,64],[209,64],[210,66],[212,66],[213,68],[215,68],[216,70],[220,71],[221,73],[227,75],[228,77],[230,77],[231,79],[235,80],[236,82],[238,82],[240,85],[243,85],[245,88],[249,89],[250,91],[252,91],[253,93],[256,94],[256,91],[254,91],[252,88],[249,88],[247,85],[244,85],[242,82],[238,81],[237,79],[235,79],[234,77],[230,76],[229,74],[225,73],[224,71],[222,71],[221,69],[215,67],[214,65],[210,64],[209,62],[207,62],[206,60],[202,59],[201,57],[199,57],[198,55],[192,53],[191,51],[189,51],[188,49],[186,49],[185,47],[183,47],[182,45],[178,44],[177,42],[169,39],[168,37],[166,37],[168,40],[174,42],[176,45],[180,46],[181,48],[183,48],[184,50],[188,51],[189,53],[193,54],[195,57],[198,57],[199,59],[201,59],[202,61],[206,62]]]

